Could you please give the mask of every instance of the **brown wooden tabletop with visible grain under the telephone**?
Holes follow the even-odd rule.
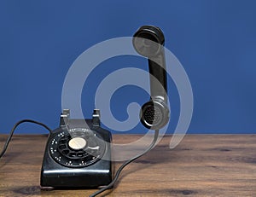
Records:
[[[0,136],[3,148],[7,136]],[[117,135],[114,142],[140,136]],[[165,136],[122,172],[108,196],[256,196],[256,135],[187,135],[170,149]],[[96,190],[39,188],[47,136],[14,136],[0,160],[0,196],[88,196]],[[117,164],[120,165],[120,164]]]

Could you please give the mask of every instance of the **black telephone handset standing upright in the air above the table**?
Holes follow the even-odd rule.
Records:
[[[142,26],[132,40],[137,53],[148,57],[150,73],[150,101],[146,102],[140,112],[142,124],[151,130],[159,130],[169,121],[167,107],[165,37],[156,26]]]

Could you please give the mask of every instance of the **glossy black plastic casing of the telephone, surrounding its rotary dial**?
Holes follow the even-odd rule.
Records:
[[[77,127],[84,126],[84,119],[72,119],[72,121]],[[84,167],[68,167],[57,163],[49,154],[49,143],[55,135],[65,130],[63,129],[65,127],[60,126],[49,135],[46,144],[41,170],[41,188],[98,188],[112,181],[111,133],[93,125],[91,119],[86,119],[86,123],[90,130],[102,136],[107,142],[104,159],[98,159],[95,163]]]

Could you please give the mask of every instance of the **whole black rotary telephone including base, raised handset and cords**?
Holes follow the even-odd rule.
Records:
[[[70,119],[70,110],[61,113],[60,126],[50,130],[48,126],[31,119],[24,119],[15,124],[10,131],[0,158],[8,148],[16,127],[30,122],[44,126],[49,130],[48,142],[44,152],[40,185],[49,188],[99,188],[95,194],[113,188],[120,171],[133,160],[148,153],[157,141],[159,130],[169,120],[169,108],[166,95],[166,60],[165,38],[160,28],[142,26],[134,34],[132,43],[137,53],[148,58],[150,73],[150,100],[140,112],[142,124],[155,130],[154,140],[142,153],[125,161],[113,177],[111,162],[112,135],[101,127],[100,110],[95,109],[92,119]]]

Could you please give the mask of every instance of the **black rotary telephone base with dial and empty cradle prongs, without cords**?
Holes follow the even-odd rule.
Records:
[[[92,119],[69,119],[69,113],[69,110],[63,110],[60,127],[49,134],[41,170],[41,188],[108,185],[113,174],[112,136],[101,127],[99,110],[94,110]]]

